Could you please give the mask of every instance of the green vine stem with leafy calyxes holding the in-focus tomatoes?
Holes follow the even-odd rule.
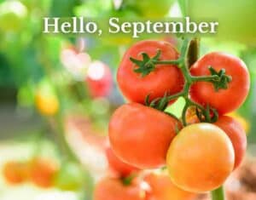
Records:
[[[218,120],[218,111],[215,108],[207,105],[201,106],[195,103],[189,98],[189,89],[193,83],[196,82],[208,82],[212,83],[212,86],[216,91],[219,89],[228,89],[228,85],[232,80],[232,77],[226,74],[224,69],[215,71],[212,66],[208,66],[208,70],[211,75],[194,77],[189,72],[189,67],[195,63],[198,57],[198,39],[184,38],[183,45],[181,47],[181,54],[177,60],[160,60],[161,52],[157,50],[156,54],[150,58],[148,54],[142,53],[142,60],[136,60],[130,58],[131,62],[135,64],[134,71],[141,74],[142,77],[147,76],[151,71],[154,71],[156,67],[160,65],[175,65],[183,73],[184,85],[183,90],[177,94],[168,95],[149,101],[149,95],[145,99],[146,106],[154,107],[157,110],[165,111],[168,106],[168,102],[176,100],[178,97],[183,97],[185,100],[185,106],[182,112],[182,123],[183,126],[187,125],[186,112],[191,106],[195,106],[196,115],[201,122],[215,123]],[[157,66],[156,66],[157,65]],[[172,77],[171,77],[172,78]],[[219,187],[217,190],[212,191],[212,200],[224,200],[223,187]]]

